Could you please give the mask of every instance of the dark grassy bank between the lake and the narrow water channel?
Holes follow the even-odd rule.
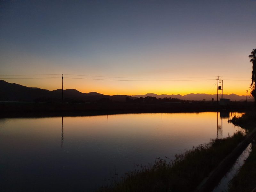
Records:
[[[102,187],[99,191],[192,191],[220,161],[244,139],[241,132],[226,139],[215,139],[185,153],[174,161],[157,158],[153,166],[138,167],[125,173],[119,182]]]

